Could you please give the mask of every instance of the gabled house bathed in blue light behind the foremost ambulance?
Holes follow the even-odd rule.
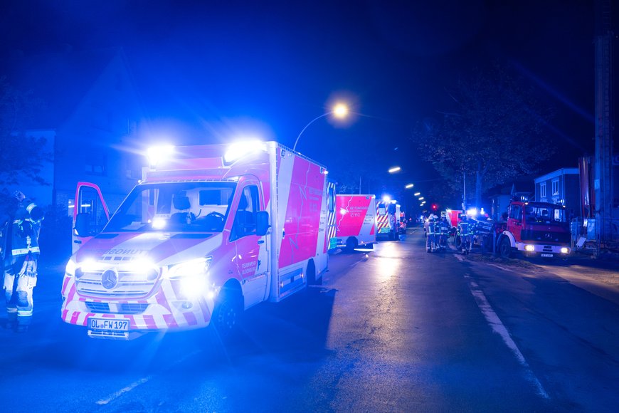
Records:
[[[18,58],[11,83],[46,105],[32,130],[53,142],[48,185],[33,187],[39,204],[54,204],[73,215],[80,181],[97,184],[114,211],[141,178],[142,119],[134,84],[120,48],[64,51]],[[49,138],[52,139],[49,139]]]

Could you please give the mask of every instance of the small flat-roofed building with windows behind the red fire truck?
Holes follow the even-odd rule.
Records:
[[[571,216],[581,216],[578,168],[561,168],[535,179],[535,200],[564,204]]]

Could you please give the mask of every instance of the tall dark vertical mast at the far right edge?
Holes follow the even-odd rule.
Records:
[[[596,235],[602,247],[616,239],[613,234],[613,31],[610,0],[596,1]]]

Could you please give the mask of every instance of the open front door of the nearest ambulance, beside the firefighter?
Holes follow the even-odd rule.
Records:
[[[73,203],[73,231],[71,231],[73,253],[99,234],[109,220],[110,211],[99,187],[90,182],[78,182]]]

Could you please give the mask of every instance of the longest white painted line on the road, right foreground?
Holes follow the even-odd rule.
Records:
[[[509,350],[512,350],[512,352],[516,356],[516,359],[518,360],[520,365],[524,367],[525,378],[535,386],[537,393],[541,397],[544,397],[544,399],[550,399],[548,393],[546,393],[546,390],[544,390],[544,387],[541,385],[539,380],[537,380],[537,377],[535,377],[533,371],[531,370],[531,367],[529,367],[529,363],[527,363],[527,360],[524,359],[524,355],[522,355],[522,352],[520,352],[518,346],[516,345],[516,343],[514,343],[514,340],[512,340],[512,336],[509,335],[509,331],[502,323],[497,313],[494,312],[492,306],[490,306],[490,303],[488,303],[488,300],[486,299],[486,296],[484,295],[480,287],[477,285],[477,283],[475,283],[475,281],[472,281],[470,276],[468,276],[467,274],[465,274],[465,279],[469,284],[469,289],[473,295],[473,298],[475,298],[477,307],[479,307],[482,311],[482,314],[486,318],[488,324],[490,324],[490,327],[492,327],[494,333],[497,333],[499,336],[501,336]]]

